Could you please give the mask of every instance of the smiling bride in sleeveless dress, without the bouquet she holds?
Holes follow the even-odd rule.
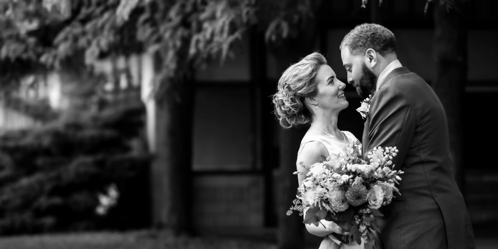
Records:
[[[351,132],[337,128],[339,113],[349,105],[345,87],[325,57],[317,52],[289,66],[280,77],[278,92],[273,95],[280,125],[289,128],[310,124],[297,152],[298,172],[306,172],[303,166],[325,161],[330,154],[337,154],[349,143],[358,141]],[[305,177],[306,174],[298,174],[299,186]],[[320,249],[364,248],[364,243],[344,244],[338,239],[348,235],[348,231],[335,223],[322,220],[321,224],[305,224],[309,233],[325,237]]]

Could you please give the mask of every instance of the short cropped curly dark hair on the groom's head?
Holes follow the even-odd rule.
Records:
[[[365,53],[373,48],[380,55],[396,51],[396,38],[391,30],[375,23],[357,25],[344,36],[339,49],[349,48],[351,54]]]

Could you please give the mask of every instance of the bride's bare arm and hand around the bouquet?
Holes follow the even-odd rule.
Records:
[[[327,152],[327,149],[318,141],[311,141],[303,146],[296,162],[297,172],[301,172],[297,174],[299,186],[301,186],[303,180],[306,179],[307,169],[305,166],[312,165],[317,162],[323,162],[326,160],[328,155],[329,153]],[[306,214],[306,210],[304,213]],[[345,231],[343,231],[342,228],[334,222],[321,220],[320,223],[321,224],[318,224],[318,226],[313,224],[305,224],[306,230],[308,230],[310,234],[319,237],[324,237],[331,233],[345,234]]]

